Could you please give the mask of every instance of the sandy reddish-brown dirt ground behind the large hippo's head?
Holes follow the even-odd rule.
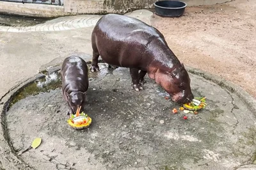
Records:
[[[183,17],[153,16],[180,61],[223,77],[256,97],[256,4],[233,1],[188,7]]]

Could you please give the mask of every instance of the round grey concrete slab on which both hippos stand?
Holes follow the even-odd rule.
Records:
[[[47,92],[19,100],[6,113],[15,151],[42,138],[38,148],[20,156],[30,167],[227,170],[254,159],[255,115],[235,94],[191,74],[194,95],[207,97],[208,105],[184,120],[184,112],[173,114],[178,105],[148,77],[145,90],[136,92],[127,68],[108,70],[101,64],[100,69],[90,73],[85,106],[93,120],[90,128],[67,125],[60,88],[41,89]]]

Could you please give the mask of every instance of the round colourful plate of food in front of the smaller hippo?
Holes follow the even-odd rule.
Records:
[[[88,128],[92,123],[92,118],[90,118],[84,112],[81,112],[81,106],[77,108],[76,114],[70,114],[68,119],[68,125],[75,129]]]

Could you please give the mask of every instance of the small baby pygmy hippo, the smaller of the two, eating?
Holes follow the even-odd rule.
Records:
[[[80,106],[83,111],[89,86],[86,62],[76,56],[66,58],[61,66],[61,77],[62,92],[70,106],[68,114],[75,114]]]

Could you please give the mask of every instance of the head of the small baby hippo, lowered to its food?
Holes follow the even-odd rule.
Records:
[[[72,111],[72,114],[76,114],[77,109],[81,106],[81,112],[84,110],[84,102],[86,99],[86,92],[72,91],[67,93],[67,100]]]

